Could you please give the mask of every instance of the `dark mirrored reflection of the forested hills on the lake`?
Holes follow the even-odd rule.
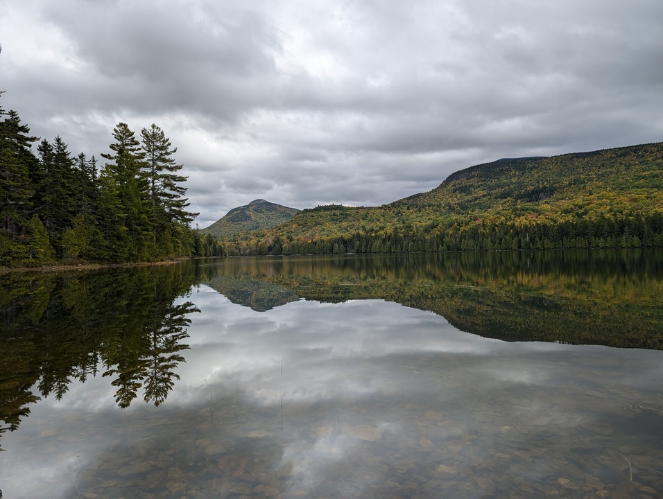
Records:
[[[486,338],[663,348],[660,251],[227,259],[199,272],[253,310],[385,299]]]

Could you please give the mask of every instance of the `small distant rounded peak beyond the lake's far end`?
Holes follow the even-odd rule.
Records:
[[[255,200],[246,206],[233,208],[223,218],[202,229],[203,234],[223,237],[240,231],[252,231],[276,227],[293,218],[299,210],[274,204],[265,200]]]

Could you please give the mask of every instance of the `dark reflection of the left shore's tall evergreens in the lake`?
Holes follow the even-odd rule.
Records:
[[[62,399],[72,380],[112,378],[128,407],[143,389],[160,405],[189,348],[189,315],[175,300],[193,277],[173,268],[10,274],[0,288],[0,434],[14,431],[41,397]],[[36,392],[35,392],[36,387]]]

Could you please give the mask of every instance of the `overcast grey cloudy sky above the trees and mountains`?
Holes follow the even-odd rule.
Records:
[[[663,141],[662,19],[660,0],[0,0],[0,103],[74,156],[156,123],[203,228],[255,199],[376,206],[502,157]]]

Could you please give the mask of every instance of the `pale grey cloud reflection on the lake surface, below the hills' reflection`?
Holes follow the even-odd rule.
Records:
[[[160,456],[158,466],[173,460],[166,469],[205,462],[223,473],[220,491],[245,475],[279,477],[286,496],[425,494],[407,484],[440,491],[458,477],[481,479],[473,487],[488,490],[503,476],[549,480],[578,448],[595,462],[612,459],[612,475],[605,473],[623,478],[626,462],[612,448],[623,452],[632,438],[646,437],[652,449],[662,441],[644,420],[640,433],[617,430],[635,421],[624,410],[634,387],[638,403],[655,403],[645,396],[663,369],[657,351],[491,340],[381,300],[295,301],[256,312],[207,286],[187,299],[202,312],[191,317],[191,349],[164,405],[119,410],[100,376],[72,383],[61,402],[37,404],[3,440],[24,455],[12,475],[42,484],[28,489],[22,480],[21,491],[34,495],[49,483],[64,498],[86,470],[132,453]],[[55,434],[44,433],[51,428]],[[226,471],[226,455],[244,464]],[[15,480],[3,476],[6,493]]]

